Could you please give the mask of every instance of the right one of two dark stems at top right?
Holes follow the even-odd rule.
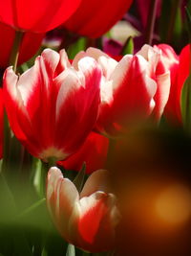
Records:
[[[181,0],[174,0],[173,4],[172,4],[171,17],[170,17],[170,22],[169,22],[167,36],[166,36],[166,41],[168,43],[171,42],[171,39],[172,39],[172,36],[173,36],[176,16],[177,16],[178,9],[180,7],[180,1]]]

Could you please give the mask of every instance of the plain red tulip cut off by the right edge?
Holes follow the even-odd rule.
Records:
[[[169,60],[170,59],[170,60]],[[168,56],[171,61],[171,90],[168,103],[165,107],[165,115],[173,123],[181,123],[180,95],[184,81],[189,75],[191,65],[190,45],[185,46],[178,57],[175,53]]]

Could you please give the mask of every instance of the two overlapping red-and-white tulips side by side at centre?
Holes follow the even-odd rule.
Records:
[[[145,45],[119,62],[96,49],[79,53],[45,50],[21,76],[4,75],[6,109],[16,137],[35,157],[66,159],[93,128],[114,135],[128,119],[159,119],[170,89],[159,51]]]

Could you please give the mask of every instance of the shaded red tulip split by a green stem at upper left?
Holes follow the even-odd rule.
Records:
[[[0,35],[2,35],[0,40],[0,66],[5,68],[9,65],[15,31],[10,26],[0,23]],[[18,64],[22,64],[34,56],[41,45],[44,35],[45,34],[35,34],[31,32],[24,35]]]

